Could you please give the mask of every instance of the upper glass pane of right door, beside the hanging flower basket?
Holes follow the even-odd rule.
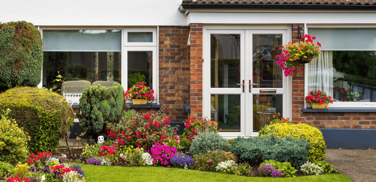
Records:
[[[282,88],[282,68],[275,64],[282,52],[282,34],[253,34],[253,88]]]

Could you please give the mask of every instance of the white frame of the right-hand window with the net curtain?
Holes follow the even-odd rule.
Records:
[[[305,34],[309,35],[309,28],[376,28],[376,24],[305,24]],[[311,35],[315,36],[315,35]],[[308,68],[305,67],[304,82],[308,83]],[[304,97],[308,96],[310,92],[308,90],[308,84],[304,86]],[[305,102],[305,101],[304,101]],[[305,104],[305,108],[311,107],[308,103]],[[376,102],[333,102],[329,103],[329,108],[376,108]]]

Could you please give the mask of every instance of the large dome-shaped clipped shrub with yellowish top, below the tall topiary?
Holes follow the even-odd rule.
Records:
[[[0,112],[7,108],[11,109],[8,116],[31,136],[27,143],[30,153],[56,151],[62,136],[61,124],[67,117],[74,117],[62,96],[32,87],[16,87],[0,94]]]

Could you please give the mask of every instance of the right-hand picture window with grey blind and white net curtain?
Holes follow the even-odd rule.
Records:
[[[326,92],[336,107],[374,105],[376,28],[309,28],[309,34],[323,53],[307,64],[308,92]]]

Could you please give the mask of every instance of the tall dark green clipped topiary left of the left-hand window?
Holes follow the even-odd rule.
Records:
[[[0,45],[0,91],[41,82],[42,38],[32,23],[0,24]]]

